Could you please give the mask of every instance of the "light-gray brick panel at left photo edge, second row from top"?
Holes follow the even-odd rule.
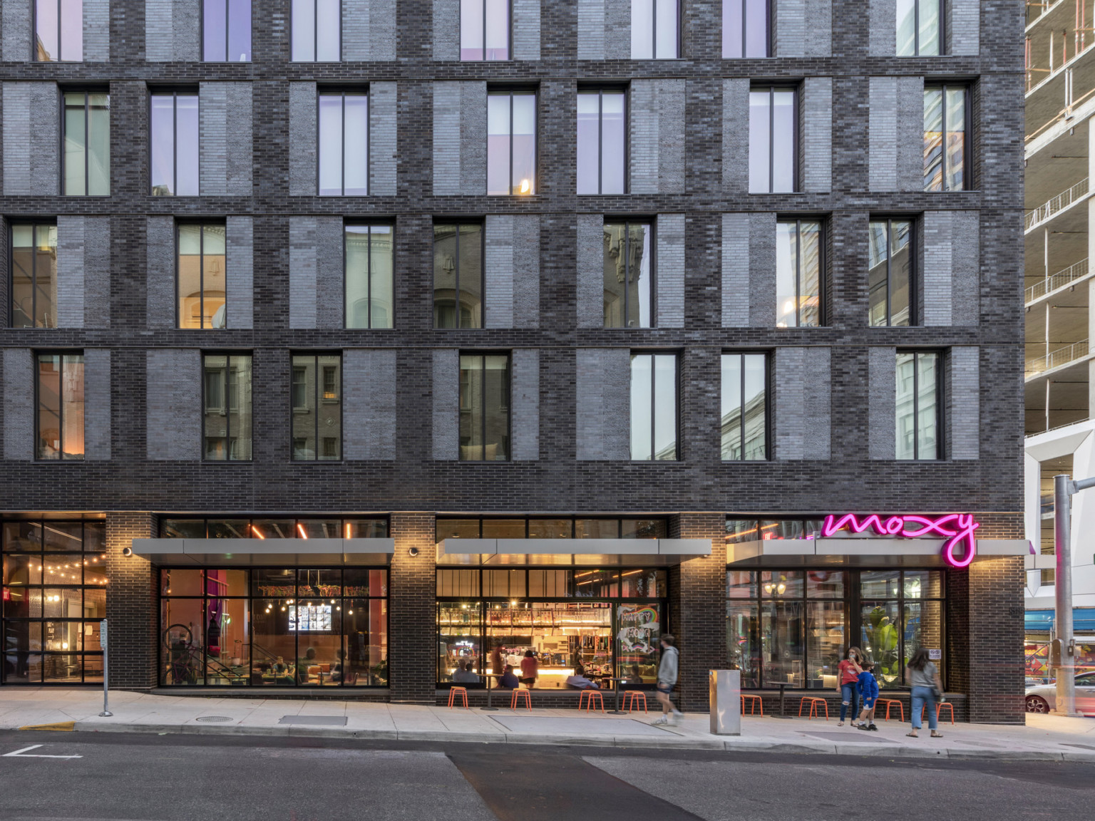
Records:
[[[57,85],[5,82],[2,100],[4,196],[56,196],[60,190]]]

